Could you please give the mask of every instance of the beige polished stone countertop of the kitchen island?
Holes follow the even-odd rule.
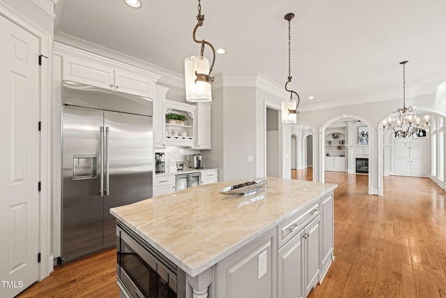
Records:
[[[223,195],[223,181],[110,209],[125,226],[190,276],[293,216],[336,184],[268,177],[251,195]]]

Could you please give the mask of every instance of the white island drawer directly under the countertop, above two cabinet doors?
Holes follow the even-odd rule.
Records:
[[[277,247],[281,247],[295,234],[321,214],[321,202],[318,200],[277,226]]]

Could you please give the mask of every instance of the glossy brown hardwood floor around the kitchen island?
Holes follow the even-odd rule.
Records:
[[[293,177],[312,180],[311,168]],[[334,191],[334,262],[316,297],[446,297],[445,192],[429,179],[325,172]],[[119,297],[116,250],[56,267],[19,297]],[[247,297],[249,298],[249,297]]]

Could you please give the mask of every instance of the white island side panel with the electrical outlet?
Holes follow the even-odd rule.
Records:
[[[275,298],[276,228],[215,265],[215,297]]]

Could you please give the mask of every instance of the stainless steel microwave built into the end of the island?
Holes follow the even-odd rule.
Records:
[[[131,297],[185,298],[185,272],[118,221],[118,286]]]

